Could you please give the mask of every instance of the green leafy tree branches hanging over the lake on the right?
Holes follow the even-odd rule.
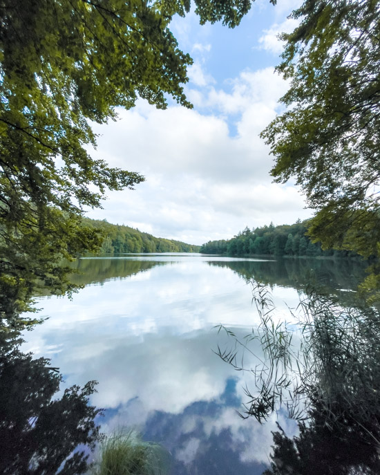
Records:
[[[262,136],[276,181],[296,176],[323,248],[379,255],[380,16],[375,0],[305,0],[277,67],[287,110]],[[363,239],[363,229],[365,239]]]

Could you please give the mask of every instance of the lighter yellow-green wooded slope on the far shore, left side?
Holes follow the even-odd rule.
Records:
[[[84,218],[88,226],[102,230],[105,239],[101,252],[120,254],[123,252],[199,252],[199,245],[191,245],[173,239],[156,238],[133,227],[115,225],[106,220]]]

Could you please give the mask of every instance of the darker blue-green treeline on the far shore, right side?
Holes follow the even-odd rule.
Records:
[[[247,254],[272,256],[307,256],[307,257],[357,257],[350,251],[322,250],[319,243],[312,243],[305,235],[306,221],[297,221],[292,225],[246,227],[232,239],[209,241],[202,244],[200,252],[204,254],[227,254],[243,256]]]

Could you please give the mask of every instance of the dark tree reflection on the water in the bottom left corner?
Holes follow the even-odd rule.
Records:
[[[88,404],[95,382],[54,398],[61,375],[46,358],[21,353],[20,343],[0,343],[0,473],[83,474],[101,438],[100,410]]]

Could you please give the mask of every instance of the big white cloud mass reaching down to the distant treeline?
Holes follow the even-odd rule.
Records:
[[[93,154],[140,171],[146,183],[110,193],[104,210],[88,216],[196,244],[228,239],[247,224],[309,217],[294,187],[271,183],[272,158],[258,136],[287,83],[265,68],[240,73],[230,86],[198,91],[198,111],[139,102],[118,122],[95,127],[103,135]]]

